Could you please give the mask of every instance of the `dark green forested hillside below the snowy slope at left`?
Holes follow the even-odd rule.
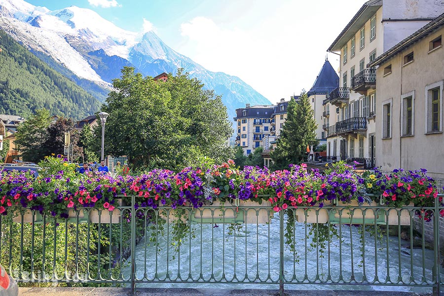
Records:
[[[0,30],[0,113],[28,117],[45,108],[80,119],[100,102]]]

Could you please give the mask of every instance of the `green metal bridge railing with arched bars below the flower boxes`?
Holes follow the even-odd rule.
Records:
[[[133,293],[152,284],[211,283],[274,285],[280,295],[300,284],[423,287],[439,295],[442,209],[438,202],[284,214],[242,204],[152,209],[135,206],[133,196],[112,215],[87,209],[55,220],[33,213],[33,223],[2,217],[0,263],[20,283],[126,286]]]

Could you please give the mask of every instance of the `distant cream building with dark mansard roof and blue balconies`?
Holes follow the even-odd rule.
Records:
[[[271,118],[275,112],[273,105],[246,104],[245,108],[236,109],[237,136],[236,146],[249,155],[254,149],[263,147],[262,139],[271,135]]]

